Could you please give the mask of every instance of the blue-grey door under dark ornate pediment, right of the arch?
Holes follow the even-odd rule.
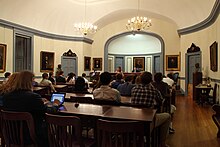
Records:
[[[188,84],[192,84],[193,83],[193,72],[195,72],[195,64],[196,63],[199,63],[199,65],[201,66],[200,64],[201,62],[201,58],[200,58],[200,55],[192,55],[192,56],[189,56],[189,62],[188,62],[188,77],[189,77],[189,82]]]

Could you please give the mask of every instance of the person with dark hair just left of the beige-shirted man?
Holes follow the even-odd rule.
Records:
[[[78,77],[75,82],[74,92],[77,93],[89,93],[83,77]]]

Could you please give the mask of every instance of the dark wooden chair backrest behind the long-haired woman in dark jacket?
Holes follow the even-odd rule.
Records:
[[[2,131],[7,146],[37,146],[34,120],[28,112],[2,110]]]

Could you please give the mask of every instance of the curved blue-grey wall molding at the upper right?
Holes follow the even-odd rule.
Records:
[[[216,21],[216,19],[219,16],[219,12],[220,12],[220,0],[216,0],[210,15],[205,20],[203,20],[202,22],[196,25],[177,30],[178,34],[180,36],[186,35],[209,27]]]

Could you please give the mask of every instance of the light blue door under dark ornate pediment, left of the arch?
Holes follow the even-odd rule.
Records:
[[[78,75],[77,57],[62,56],[61,66],[64,72],[64,76],[67,76],[70,72],[73,72],[76,75]]]

